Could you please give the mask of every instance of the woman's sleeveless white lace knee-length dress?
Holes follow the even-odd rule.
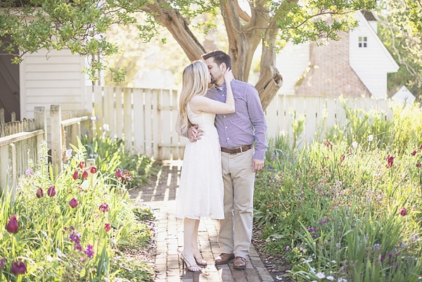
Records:
[[[220,145],[215,129],[215,114],[193,113],[187,104],[188,119],[198,124],[204,134],[196,142],[188,142],[181,167],[176,200],[178,218],[224,219],[223,179]]]

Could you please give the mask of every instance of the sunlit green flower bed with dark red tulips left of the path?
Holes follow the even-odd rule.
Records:
[[[146,242],[151,241],[151,223],[147,226],[139,220],[139,209],[136,214],[132,212],[124,184],[108,186],[114,176],[81,165],[86,158],[84,148],[75,153],[63,172],[53,178],[44,144],[41,154],[45,158],[37,167],[31,167],[33,173],[20,179],[15,201],[8,193],[1,195],[1,226],[6,226],[15,214],[19,228],[16,233],[0,230],[0,259],[6,259],[6,267],[0,269],[0,281],[117,279],[120,276],[111,275],[110,269],[126,259],[115,257],[115,253],[120,253],[119,242],[130,240],[133,233],[137,243],[143,242],[134,248],[146,248]],[[79,176],[82,172],[88,174],[75,177],[75,171],[80,172]],[[40,188],[44,191],[42,196]],[[71,205],[73,200],[77,205]],[[16,261],[26,264],[25,274],[15,276],[11,272],[11,264]],[[150,281],[153,270],[143,267],[136,274],[141,277],[139,281]]]

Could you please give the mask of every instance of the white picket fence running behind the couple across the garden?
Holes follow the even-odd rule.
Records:
[[[342,103],[349,108],[377,110],[385,119],[392,116],[387,99],[353,98],[342,102],[332,97],[277,96],[265,111],[267,136],[293,136],[292,124],[302,118],[305,129],[298,136],[300,146],[312,142],[316,132],[323,138],[333,124],[343,126],[347,122]],[[127,150],[156,160],[183,158],[187,139],[174,130],[177,91],[94,86],[94,115],[98,116],[97,127],[108,124],[110,136],[123,139]]]

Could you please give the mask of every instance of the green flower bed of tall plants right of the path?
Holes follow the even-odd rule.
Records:
[[[350,132],[302,150],[292,150],[284,137],[271,142],[267,168],[255,182],[254,219],[267,242],[264,250],[286,257],[296,281],[418,280],[419,115],[417,107],[396,108],[385,124],[352,115],[358,146],[347,139]],[[388,127],[383,143],[379,134]]]

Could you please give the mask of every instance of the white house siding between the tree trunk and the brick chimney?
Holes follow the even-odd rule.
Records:
[[[277,56],[277,69],[283,76],[279,95],[295,95],[295,84],[309,65],[309,43],[293,45],[290,41]]]

